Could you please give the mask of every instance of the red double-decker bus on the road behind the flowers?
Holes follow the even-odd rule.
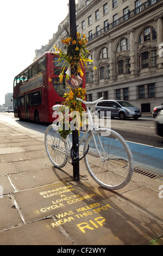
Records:
[[[14,78],[14,116],[33,120],[35,123],[52,123],[52,107],[64,101],[67,92],[66,74],[59,80],[59,56],[52,52],[44,53]],[[61,64],[60,64],[61,65]],[[84,72],[85,74],[85,72]],[[49,82],[51,76],[51,82]],[[82,78],[85,88],[85,75]]]

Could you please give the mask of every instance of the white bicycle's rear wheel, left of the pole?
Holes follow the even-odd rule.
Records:
[[[45,131],[45,148],[49,160],[57,168],[64,167],[67,162],[68,143],[62,142],[57,125],[49,125]]]

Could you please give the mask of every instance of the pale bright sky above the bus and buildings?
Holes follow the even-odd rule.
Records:
[[[68,14],[68,0],[7,0],[0,3],[0,105],[14,77],[33,63]]]

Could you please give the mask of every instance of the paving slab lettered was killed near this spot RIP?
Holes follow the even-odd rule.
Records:
[[[120,197],[85,204],[55,217],[55,227],[62,225],[78,245],[143,245],[162,232],[161,223]]]

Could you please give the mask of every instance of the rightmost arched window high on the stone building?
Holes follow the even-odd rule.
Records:
[[[155,28],[148,27],[141,32],[139,36],[139,44],[142,44],[142,42],[146,42],[148,40],[155,40],[155,39],[157,39]]]

